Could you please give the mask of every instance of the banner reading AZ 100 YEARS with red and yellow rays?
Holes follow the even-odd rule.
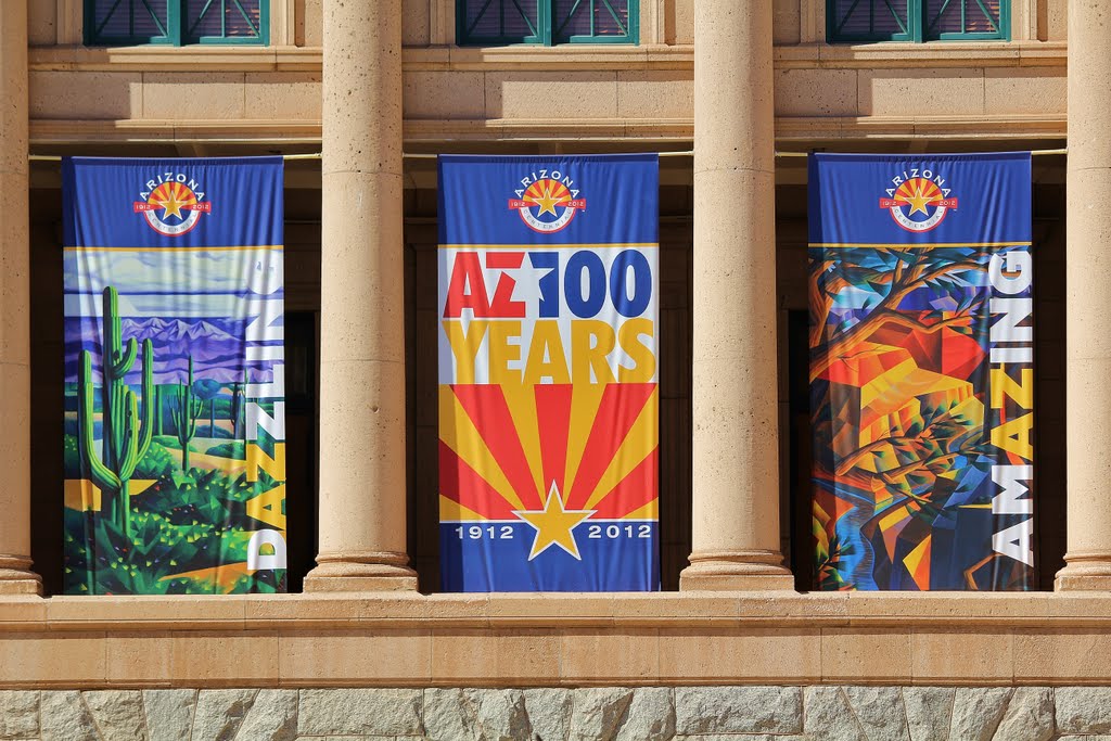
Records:
[[[440,158],[444,591],[659,589],[658,183]]]

